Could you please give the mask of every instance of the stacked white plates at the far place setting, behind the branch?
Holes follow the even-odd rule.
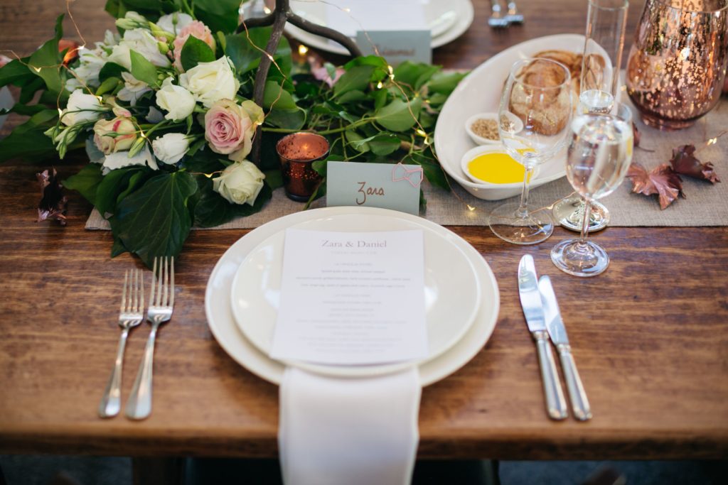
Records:
[[[430,41],[430,47],[432,47],[432,49],[454,41],[459,36],[462,36],[468,28],[470,28],[470,24],[472,24],[472,20],[475,17],[475,11],[470,0],[450,0],[444,2],[431,1],[430,3],[442,3],[446,6],[446,9],[440,9],[441,7],[438,7],[438,9],[435,10],[437,12],[442,12],[442,17],[435,18],[435,15],[431,14],[426,17],[428,19],[430,29],[432,30],[432,41]],[[298,7],[300,5],[304,5],[305,9],[303,11]],[[291,2],[291,8],[301,15],[301,17],[306,18],[306,20],[311,20],[315,23],[325,22],[321,19],[323,14],[319,13],[316,15],[315,12],[313,14],[308,12],[308,10],[314,8],[315,5],[319,5],[319,7],[317,7],[319,9],[323,7],[323,4],[320,2]],[[425,12],[427,14],[427,9],[425,9]],[[451,15],[449,12],[453,12],[454,15]],[[451,23],[450,19],[452,19]],[[349,51],[347,51],[344,47],[341,47],[341,45],[336,42],[329,41],[329,39],[326,39],[325,37],[306,32],[290,22],[285,24],[285,31],[290,36],[293,36],[293,38],[298,39],[298,41],[301,41],[309,47],[315,47],[316,49],[321,49],[326,52],[333,52],[334,54],[349,55]],[[438,35],[435,35],[435,32],[438,32]]]

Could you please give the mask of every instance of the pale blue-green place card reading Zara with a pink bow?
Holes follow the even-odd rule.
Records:
[[[380,207],[419,215],[422,176],[419,165],[329,161],[326,205]]]

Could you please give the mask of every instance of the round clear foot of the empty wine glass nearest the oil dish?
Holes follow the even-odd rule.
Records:
[[[513,244],[537,244],[553,233],[553,218],[547,211],[526,207],[519,211],[517,202],[496,207],[488,218],[491,231]]]

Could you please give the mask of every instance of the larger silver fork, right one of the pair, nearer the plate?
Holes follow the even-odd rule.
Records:
[[[159,267],[159,272],[157,271]],[[155,257],[151,270],[152,281],[149,292],[149,309],[146,320],[151,324],[149,340],[146,341],[144,357],[134,381],[131,396],[127,401],[126,414],[132,420],[143,420],[151,414],[151,374],[154,367],[154,340],[159,325],[172,318],[175,303],[175,258]]]

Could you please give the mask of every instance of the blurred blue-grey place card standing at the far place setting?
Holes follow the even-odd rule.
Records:
[[[368,37],[367,37],[368,36]],[[374,47],[381,57],[390,65],[399,65],[405,60],[414,63],[432,63],[432,47],[430,41],[432,33],[429,29],[401,30],[401,31],[357,31],[357,46],[364,55],[376,54]]]

